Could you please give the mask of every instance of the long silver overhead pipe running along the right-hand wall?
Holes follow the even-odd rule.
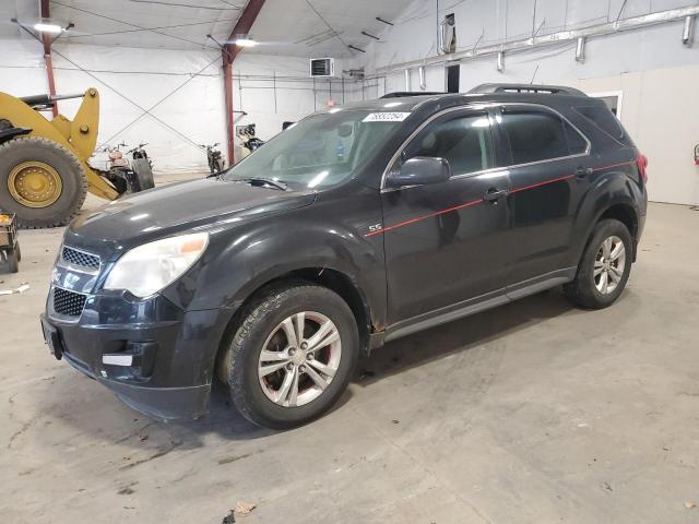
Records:
[[[557,33],[550,33],[547,35],[535,36],[531,38],[522,38],[519,40],[511,40],[500,44],[494,44],[490,46],[483,46],[478,49],[469,49],[464,51],[453,52],[448,56],[434,56],[429,58],[422,58],[418,60],[411,60],[407,62],[395,63],[383,68],[377,68],[376,74],[387,74],[398,72],[401,70],[418,67],[418,66],[438,66],[452,61],[470,60],[474,58],[481,58],[484,56],[497,55],[500,51],[519,51],[525,49],[536,49],[541,47],[559,44],[561,41],[576,41],[580,37],[592,38],[596,36],[612,35],[615,33],[621,33],[625,31],[633,31],[642,27],[649,27],[652,25],[665,24],[668,22],[676,22],[678,20],[685,20],[687,16],[699,15],[699,5],[692,5],[687,8],[671,9],[667,11],[660,11],[657,13],[643,14],[640,16],[632,16],[615,22],[608,22],[604,24],[594,25],[591,27],[583,27],[580,29],[559,31]],[[686,23],[686,22],[685,22]]]

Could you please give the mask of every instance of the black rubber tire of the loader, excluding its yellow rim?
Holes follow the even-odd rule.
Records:
[[[58,199],[46,207],[31,207],[10,192],[12,170],[25,162],[50,166],[60,177]],[[87,178],[78,157],[62,145],[36,136],[14,139],[0,145],[0,207],[17,215],[24,228],[63,226],[73,219],[85,201]]]

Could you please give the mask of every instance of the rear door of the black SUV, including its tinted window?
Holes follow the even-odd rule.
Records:
[[[508,285],[556,277],[569,259],[576,209],[590,184],[590,142],[545,106],[503,105],[497,121],[510,151]]]

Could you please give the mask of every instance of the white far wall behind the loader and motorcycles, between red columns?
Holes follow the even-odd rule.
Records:
[[[98,143],[147,142],[156,175],[206,169],[206,155],[196,144],[226,142],[223,68],[217,51],[59,41],[52,57],[58,94],[82,93],[87,87],[99,91]],[[337,68],[342,68],[340,62]],[[0,40],[0,91],[15,96],[48,92],[38,43]],[[345,82],[345,100],[360,96],[360,84]],[[308,59],[241,52],[234,62],[234,108],[248,112],[236,114],[236,124],[256,123],[262,140],[280,132],[283,121],[299,120],[324,107],[330,98],[343,102],[342,82],[332,82],[332,94],[329,81],[319,80],[313,87]],[[66,100],[59,108],[71,118],[79,105],[80,100]],[[50,112],[45,115],[50,118]],[[221,147],[225,152],[225,145]],[[104,159],[97,154],[94,162]]]

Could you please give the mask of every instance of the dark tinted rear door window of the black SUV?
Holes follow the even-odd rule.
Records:
[[[554,114],[505,110],[500,126],[510,142],[514,164],[570,155],[564,121]]]

